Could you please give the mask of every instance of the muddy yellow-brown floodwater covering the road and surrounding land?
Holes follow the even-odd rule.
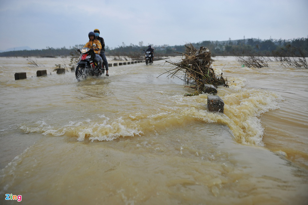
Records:
[[[215,58],[221,114],[164,61],[82,82],[37,61],[0,58],[1,204],[307,204],[308,70]]]

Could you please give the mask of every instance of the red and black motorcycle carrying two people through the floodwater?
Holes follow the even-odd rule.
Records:
[[[95,52],[90,48],[82,48],[78,50],[80,61],[77,63],[75,70],[76,78],[78,81],[86,79],[87,76],[100,76],[103,73],[99,73],[99,58],[95,57]],[[104,68],[103,68],[104,70]]]

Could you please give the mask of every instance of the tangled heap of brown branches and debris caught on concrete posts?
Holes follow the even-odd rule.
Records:
[[[212,68],[213,59],[208,48],[200,47],[197,50],[192,44],[185,45],[186,51],[182,54],[183,58],[180,62],[169,62],[172,68],[165,73],[169,73],[167,77],[177,77],[185,81],[186,84],[192,84],[192,88],[197,91],[193,95],[201,93],[205,84],[217,86],[228,86],[227,79],[216,75]],[[165,74],[164,73],[164,74]],[[229,86],[228,86],[229,87]]]

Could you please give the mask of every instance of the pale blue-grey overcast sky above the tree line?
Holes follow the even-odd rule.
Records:
[[[0,0],[0,50],[308,36],[308,0]]]

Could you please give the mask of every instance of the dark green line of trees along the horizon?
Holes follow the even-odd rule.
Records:
[[[259,55],[259,56],[277,56],[277,55],[291,55],[291,52],[287,50],[298,50],[302,56],[308,57],[308,38],[294,38],[291,40],[282,39],[267,39],[261,40],[257,38],[247,38],[240,40],[229,40],[227,41],[202,41],[198,43],[192,43],[196,48],[201,46],[207,47],[213,56],[239,56],[239,55]],[[105,54],[112,55],[132,55],[132,54],[143,54],[148,45],[143,45],[140,41],[139,45],[130,44],[115,48],[105,47]],[[17,50],[0,53],[0,57],[50,57],[50,56],[71,56],[71,53],[75,50],[82,48],[83,45],[75,45],[73,47],[63,48],[52,48],[47,47],[42,50]],[[172,56],[179,55],[179,53],[185,52],[184,45],[153,45],[156,56]],[[297,55],[298,53],[293,53]]]

